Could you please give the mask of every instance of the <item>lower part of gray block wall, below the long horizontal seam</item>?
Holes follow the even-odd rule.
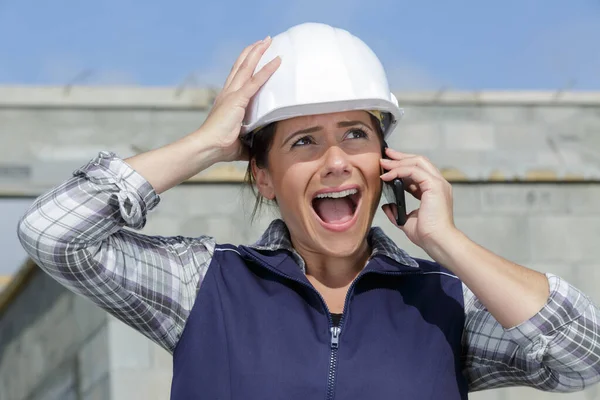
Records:
[[[598,184],[455,184],[455,219],[473,240],[508,259],[561,275],[600,303]],[[274,209],[250,223],[249,190],[230,184],[184,185],[162,195],[146,234],[199,236],[252,243]],[[417,207],[409,201],[409,208]],[[427,258],[387,221],[375,217],[402,248]],[[0,399],[168,398],[170,355],[38,274],[0,317]],[[479,400],[600,399],[597,387],[549,395],[531,389],[496,389]]]

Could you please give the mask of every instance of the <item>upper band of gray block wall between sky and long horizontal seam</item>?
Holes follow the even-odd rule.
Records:
[[[99,150],[128,157],[184,136],[211,105],[207,91],[187,96],[168,89],[65,94],[0,87],[0,192],[39,194]],[[397,97],[405,117],[390,146],[429,157],[453,180],[600,180],[600,94]],[[243,163],[230,167],[243,174]]]

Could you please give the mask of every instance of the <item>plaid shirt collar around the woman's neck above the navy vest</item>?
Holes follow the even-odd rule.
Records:
[[[382,255],[391,258],[402,265],[414,268],[419,267],[419,264],[409,256],[407,252],[396,246],[396,243],[394,243],[381,228],[372,227],[367,236],[367,240],[371,245],[371,257]],[[249,247],[255,250],[267,251],[287,250],[292,254],[302,271],[306,272],[304,260],[292,246],[290,232],[285,225],[285,222],[281,219],[272,221],[267,230],[262,234],[261,238]]]

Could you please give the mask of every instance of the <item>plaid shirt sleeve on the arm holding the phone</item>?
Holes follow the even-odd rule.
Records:
[[[463,284],[463,374],[470,391],[529,386],[574,392],[600,380],[598,308],[560,277],[546,277],[546,305],[510,329],[503,328]]]

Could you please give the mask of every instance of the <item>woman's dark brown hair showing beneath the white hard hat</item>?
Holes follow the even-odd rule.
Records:
[[[383,143],[383,131],[381,129],[380,121],[369,114],[371,117],[371,123],[375,127],[375,131]],[[256,189],[256,180],[252,174],[252,160],[256,163],[258,168],[267,168],[269,165],[269,151],[273,144],[273,138],[275,137],[275,131],[277,130],[277,122],[272,122],[269,125],[257,130],[252,133],[252,141],[250,145],[246,145],[248,149],[248,168],[246,169],[246,176],[244,182],[250,186],[252,194],[254,194],[255,202],[254,209],[252,210],[251,221],[254,221],[256,214],[260,212],[264,203],[268,202]],[[277,204],[277,200],[273,200]]]

